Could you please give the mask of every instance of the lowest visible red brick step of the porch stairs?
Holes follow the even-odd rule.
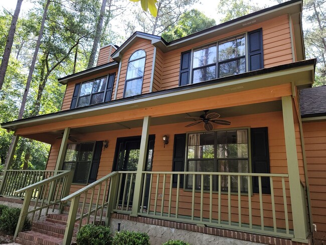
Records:
[[[34,230],[19,232],[16,242],[23,245],[62,245],[63,239]],[[71,244],[76,244],[73,241]]]

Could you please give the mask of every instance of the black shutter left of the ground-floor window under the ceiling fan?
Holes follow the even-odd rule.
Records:
[[[186,134],[175,135],[173,147],[173,172],[185,171]],[[178,185],[178,175],[173,175],[173,187]],[[180,188],[184,188],[184,175],[180,175]]]

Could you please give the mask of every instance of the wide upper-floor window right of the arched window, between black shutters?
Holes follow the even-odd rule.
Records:
[[[246,71],[245,35],[195,49],[193,83],[243,73]]]

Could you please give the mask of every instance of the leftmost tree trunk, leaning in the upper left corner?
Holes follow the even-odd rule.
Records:
[[[1,88],[2,88],[2,86],[4,84],[4,81],[5,81],[7,66],[8,66],[8,63],[9,63],[9,57],[10,57],[10,53],[12,51],[12,47],[13,47],[13,43],[14,43],[16,25],[17,25],[19,12],[21,11],[22,2],[23,2],[23,0],[18,0],[17,1],[16,10],[15,10],[15,13],[14,13],[14,16],[13,16],[13,19],[12,19],[12,23],[10,25],[10,30],[9,30],[9,33],[8,33],[8,37],[7,37],[7,42],[6,42],[5,52],[4,52],[4,55],[3,55],[3,60],[2,60],[2,63],[0,65],[0,91],[1,91]]]

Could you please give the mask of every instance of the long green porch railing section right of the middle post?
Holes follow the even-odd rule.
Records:
[[[287,174],[143,172],[143,177],[140,216],[293,237]],[[262,180],[270,194],[263,194]]]

